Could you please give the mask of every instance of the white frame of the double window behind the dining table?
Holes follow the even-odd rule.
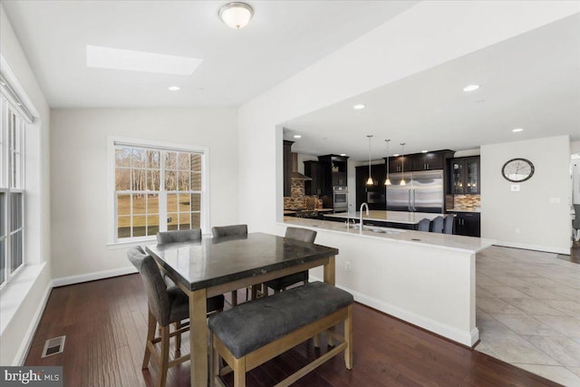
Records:
[[[156,236],[144,236],[144,237],[128,237],[119,239],[117,237],[117,196],[115,190],[115,146],[127,146],[135,148],[150,148],[156,150],[167,150],[167,151],[185,151],[185,152],[195,152],[202,154],[201,161],[201,214],[199,226],[201,227],[201,232],[203,234],[208,234],[209,225],[211,224],[209,219],[209,149],[205,146],[198,145],[187,145],[187,144],[176,144],[157,140],[143,140],[143,139],[132,139],[124,137],[114,137],[108,136],[108,172],[109,172],[109,184],[107,197],[109,198],[109,232],[108,232],[108,243],[110,247],[114,246],[126,246],[126,245],[138,245],[143,242],[154,241]],[[160,219],[162,217],[167,218],[167,208],[166,206],[161,206],[161,203],[167,202],[168,191],[165,190],[165,158],[160,157]],[[143,191],[145,194],[148,191]],[[149,192],[150,193],[150,192]],[[160,225],[160,231],[167,231],[167,224]]]

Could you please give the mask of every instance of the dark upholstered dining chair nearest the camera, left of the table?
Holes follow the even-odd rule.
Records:
[[[181,334],[189,331],[189,323],[181,324],[182,320],[189,318],[189,298],[179,287],[167,287],[161,276],[160,267],[157,266],[153,257],[145,253],[141,247],[131,248],[127,257],[131,264],[139,270],[147,293],[149,312],[142,369],[149,368],[151,354],[153,354],[153,360],[160,370],[158,386],[164,387],[169,368],[187,362],[190,358],[190,353],[183,356],[180,353]],[[208,298],[207,308],[208,314],[222,311],[224,309],[224,296],[217,295]],[[179,323],[176,325],[176,329],[169,332],[169,325],[176,323]],[[160,324],[160,337],[155,337],[157,324]],[[173,336],[176,338],[175,358],[169,361],[169,338]],[[155,348],[156,343],[161,343],[160,352]]]

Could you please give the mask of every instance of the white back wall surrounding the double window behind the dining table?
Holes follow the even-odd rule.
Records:
[[[234,109],[55,109],[52,119],[55,278],[131,267],[126,248],[106,246],[108,136],[208,147],[211,224],[237,223]]]

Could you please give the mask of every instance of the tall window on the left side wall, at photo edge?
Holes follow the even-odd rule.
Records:
[[[0,286],[24,266],[24,129],[26,121],[0,94]]]

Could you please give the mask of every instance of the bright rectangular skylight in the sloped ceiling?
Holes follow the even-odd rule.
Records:
[[[87,45],[87,67],[191,75],[202,59]]]

